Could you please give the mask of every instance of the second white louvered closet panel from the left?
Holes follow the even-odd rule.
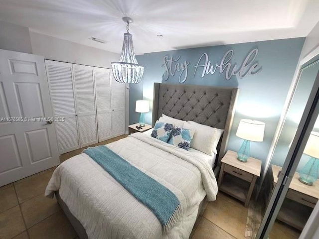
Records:
[[[94,94],[94,67],[73,65],[75,101],[81,147],[98,142]]]

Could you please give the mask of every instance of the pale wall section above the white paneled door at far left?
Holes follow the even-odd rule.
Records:
[[[0,49],[32,53],[29,28],[0,21]]]

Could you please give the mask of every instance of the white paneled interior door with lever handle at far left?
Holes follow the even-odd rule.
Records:
[[[44,58],[0,50],[0,186],[59,164],[52,117]]]

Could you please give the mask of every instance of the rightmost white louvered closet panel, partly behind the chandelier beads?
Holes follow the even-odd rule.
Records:
[[[112,76],[112,132],[113,137],[125,134],[125,84],[117,82]]]

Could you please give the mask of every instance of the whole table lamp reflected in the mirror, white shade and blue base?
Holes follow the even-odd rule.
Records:
[[[312,131],[306,144],[304,154],[311,158],[305,167],[299,172],[299,181],[307,185],[313,185],[318,179],[319,171],[319,133]]]

